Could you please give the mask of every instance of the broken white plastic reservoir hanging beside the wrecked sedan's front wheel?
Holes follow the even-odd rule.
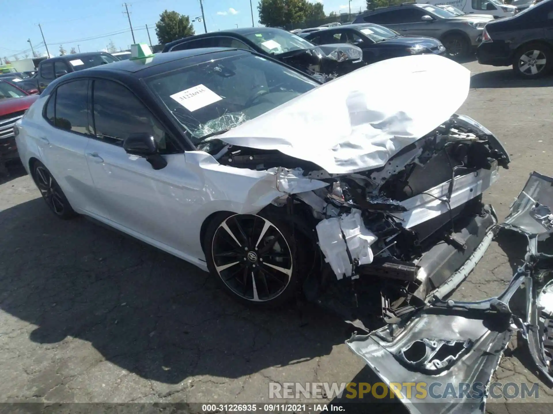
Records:
[[[343,275],[353,276],[353,260],[358,264],[372,263],[371,245],[378,237],[363,224],[361,210],[352,209],[349,214],[322,220],[316,229],[321,251],[338,280]]]

